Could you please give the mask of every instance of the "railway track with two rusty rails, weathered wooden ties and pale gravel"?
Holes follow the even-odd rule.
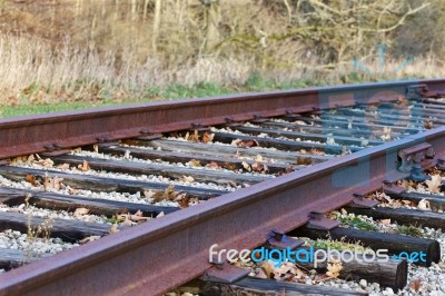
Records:
[[[434,239],[345,234],[325,214],[348,206],[399,225],[444,225],[441,195],[400,184],[422,187],[425,169],[445,166],[444,90],[445,80],[403,81],[0,120],[0,293],[161,294],[202,275],[197,285],[210,294],[301,293],[209,262],[215,244],[301,247],[284,234],[338,233],[374,249],[384,236],[392,254],[411,246],[434,265]],[[377,207],[382,193],[412,204]],[[433,210],[406,207],[425,200]],[[392,263],[386,279],[376,270],[342,276],[407,284],[406,263]]]

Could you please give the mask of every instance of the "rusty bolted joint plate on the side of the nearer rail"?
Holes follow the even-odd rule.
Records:
[[[429,144],[423,142],[421,145],[402,149],[398,151],[398,156],[402,161],[398,170],[402,172],[408,172],[412,180],[425,181],[429,178],[423,172],[422,168],[422,162],[425,159],[432,159],[435,156],[435,151]]]

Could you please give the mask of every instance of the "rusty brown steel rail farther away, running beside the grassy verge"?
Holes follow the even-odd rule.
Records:
[[[208,125],[439,93],[445,80],[324,87],[0,119],[0,159]],[[414,86],[414,88],[413,88]],[[427,88],[427,90],[426,90]]]

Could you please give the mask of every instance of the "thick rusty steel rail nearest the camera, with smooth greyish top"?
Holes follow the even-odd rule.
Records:
[[[1,295],[159,295],[204,274],[209,247],[254,248],[394,175],[400,149],[445,152],[445,127],[240,189],[0,275]]]

